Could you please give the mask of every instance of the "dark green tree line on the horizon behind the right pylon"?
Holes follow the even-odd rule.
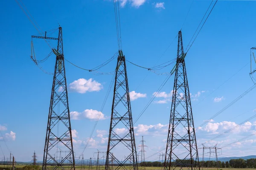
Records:
[[[189,163],[190,161],[187,160]],[[181,163],[177,163],[177,166],[182,166]],[[220,168],[256,168],[256,159],[230,159],[230,161],[199,161],[200,167],[219,167]],[[145,161],[140,162],[139,166],[141,167],[163,167],[164,163],[160,161]]]

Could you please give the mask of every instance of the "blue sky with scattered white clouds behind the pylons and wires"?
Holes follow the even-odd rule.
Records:
[[[122,50],[126,59],[145,67],[154,66],[158,60],[161,64],[174,59],[177,55],[177,38],[163,57],[161,56],[183,25],[192,0],[122,2],[123,6],[120,8]],[[64,56],[76,65],[91,69],[118,51],[111,0],[77,0],[72,3],[66,0],[54,2],[23,0],[23,3],[41,30],[58,28],[60,23],[63,28]],[[192,3],[182,28],[184,47],[188,45],[209,3],[208,0],[194,0]],[[195,127],[253,85],[249,76],[249,62],[250,48],[256,46],[254,41],[256,35],[253,34],[256,28],[256,23],[253,22],[255,3],[256,1],[243,0],[218,1],[186,56]],[[0,20],[2,82],[0,130],[17,161],[30,161],[34,150],[38,154],[38,159],[42,160],[52,76],[44,74],[31,61],[29,57],[31,35],[38,32],[14,0],[2,3]],[[55,42],[51,43],[53,46],[56,45]],[[34,45],[38,59],[43,59],[49,54],[50,49],[43,40],[35,40]],[[53,72],[54,64],[55,57],[52,55],[42,66],[46,71]],[[115,66],[116,60],[113,60],[99,71],[111,72],[114,71]],[[173,66],[170,65],[158,73],[168,72]],[[84,142],[87,142],[90,136],[95,123],[93,114],[100,110],[113,75],[98,76],[76,68],[68,62],[65,63],[65,67],[70,111],[76,113],[76,116],[79,115],[71,120],[72,129],[76,130],[73,131],[74,134],[76,133],[73,137],[76,141],[74,150],[78,156],[84,148]],[[141,96],[131,101],[133,117],[136,119],[166,77],[129,63],[127,63],[127,71],[130,91],[140,93]],[[229,79],[237,71],[239,72]],[[227,79],[229,80],[226,82]],[[134,127],[137,127],[135,130],[137,145],[143,135],[148,146],[146,157],[165,147],[171,107],[168,94],[172,91],[173,80],[174,77],[169,79],[161,91],[162,97],[156,97],[134,124]],[[88,81],[91,83],[83,83]],[[81,85],[77,82],[81,82]],[[224,82],[226,83],[218,88]],[[216,88],[218,89],[214,91]],[[93,133],[93,139],[84,151],[85,159],[92,157],[97,149],[106,150],[108,136],[106,131],[109,130],[112,94],[113,89],[102,111],[104,116],[102,115]],[[251,91],[198,130],[196,133],[198,144],[253,116],[255,114],[253,109],[256,108],[255,94],[255,90]],[[160,100],[163,102],[157,103]],[[221,147],[255,132],[255,121],[256,119],[250,120],[227,135],[209,142],[208,145],[213,146],[218,143]],[[251,147],[254,149],[250,151],[255,150],[255,137],[249,139],[223,148],[222,153],[230,156],[252,155],[253,152],[241,151]],[[8,155],[3,139],[0,139],[0,145],[3,153]],[[233,152],[231,153],[230,150]],[[0,159],[3,153],[0,152]],[[201,151],[199,154],[202,154]],[[123,154],[119,157],[122,156]],[[148,160],[158,160],[158,158],[152,156]]]

